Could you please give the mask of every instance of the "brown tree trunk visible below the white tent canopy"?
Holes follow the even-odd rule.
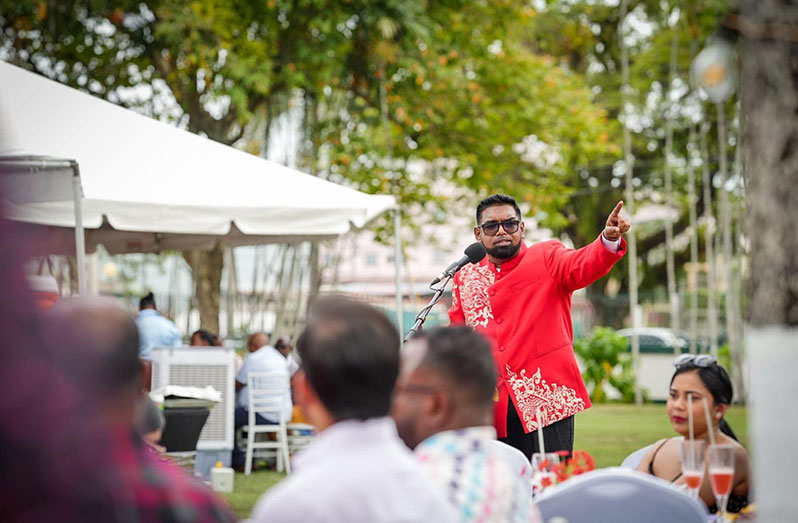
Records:
[[[194,276],[200,327],[218,333],[224,247],[217,243],[209,251],[183,251],[183,258]]]

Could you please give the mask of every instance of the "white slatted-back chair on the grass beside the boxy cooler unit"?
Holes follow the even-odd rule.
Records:
[[[286,407],[290,401],[291,388],[288,384],[288,374],[273,372],[250,372],[247,375],[247,393],[249,395],[249,420],[242,428],[247,433],[247,452],[244,473],[252,472],[252,460],[255,451],[266,450],[269,454],[274,452],[277,458],[277,471],[285,468],[286,473],[291,473],[291,458],[288,452],[288,430],[286,420]],[[256,415],[276,423],[257,424]],[[274,434],[271,439],[258,439],[258,434]],[[262,456],[258,452],[258,456]]]

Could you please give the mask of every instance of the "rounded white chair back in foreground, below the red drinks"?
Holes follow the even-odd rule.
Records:
[[[593,470],[544,491],[543,521],[705,523],[703,503],[665,480],[629,469]]]

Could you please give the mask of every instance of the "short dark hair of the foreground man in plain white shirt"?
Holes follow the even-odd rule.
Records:
[[[296,342],[308,382],[337,421],[388,415],[399,345],[385,313],[343,296],[319,298]]]

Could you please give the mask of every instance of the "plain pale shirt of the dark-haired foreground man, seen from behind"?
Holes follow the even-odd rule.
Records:
[[[446,523],[452,507],[396,433],[391,418],[340,421],[258,500],[259,523]]]

